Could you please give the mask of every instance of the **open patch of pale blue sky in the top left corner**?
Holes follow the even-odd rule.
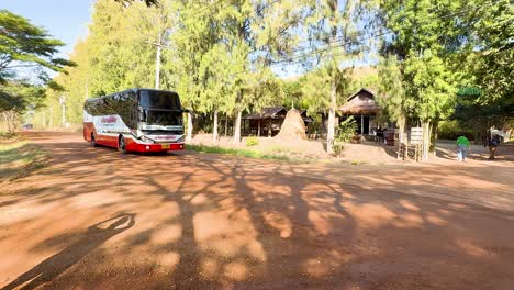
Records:
[[[66,43],[62,56],[74,48],[79,37],[87,34],[92,0],[0,0],[0,9],[31,20],[45,27],[51,35]]]

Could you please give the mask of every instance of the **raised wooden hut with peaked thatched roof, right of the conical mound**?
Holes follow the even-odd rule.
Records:
[[[350,115],[354,116],[358,124],[357,133],[360,135],[370,135],[377,129],[377,114],[380,112],[380,107],[376,101],[376,94],[372,90],[360,89],[351,94],[346,103],[338,108],[343,120]]]

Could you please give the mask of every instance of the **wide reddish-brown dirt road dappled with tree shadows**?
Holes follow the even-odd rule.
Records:
[[[0,189],[0,288],[512,289],[514,165],[122,155],[32,133]]]

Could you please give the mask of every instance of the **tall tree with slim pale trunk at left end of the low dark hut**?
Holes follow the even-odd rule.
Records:
[[[257,110],[266,103],[258,87],[269,85],[269,70],[259,70],[292,49],[294,29],[301,23],[303,9],[303,1],[238,0],[226,10],[224,35],[237,62],[234,65],[237,68],[233,93],[236,114],[234,142],[241,140],[243,111]],[[262,75],[267,75],[267,85],[256,81]]]

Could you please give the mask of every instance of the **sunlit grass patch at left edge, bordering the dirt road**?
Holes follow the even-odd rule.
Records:
[[[0,136],[0,182],[24,178],[44,167],[46,157],[35,144],[19,136]]]

